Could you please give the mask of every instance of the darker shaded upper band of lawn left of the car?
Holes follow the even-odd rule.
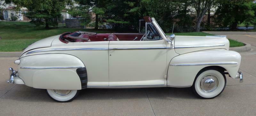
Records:
[[[35,39],[35,38],[42,39],[42,38],[50,37],[53,35],[58,35],[64,32],[74,32],[77,30],[96,32],[96,33],[113,32],[109,30],[76,29],[76,28],[64,28],[64,27],[45,29],[44,26],[36,27],[29,22],[0,21],[0,37],[3,40]]]

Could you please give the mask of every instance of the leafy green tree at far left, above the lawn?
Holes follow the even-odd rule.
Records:
[[[5,0],[6,3],[15,4],[16,10],[20,10],[21,7],[26,7],[28,12],[26,17],[31,19],[31,23],[35,25],[45,25],[45,28],[49,26],[58,26],[58,17],[61,16],[61,10],[63,10],[66,4],[70,3],[70,0]]]

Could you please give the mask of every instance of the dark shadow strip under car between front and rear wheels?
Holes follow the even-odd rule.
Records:
[[[191,88],[132,88],[132,89],[84,89],[77,100],[103,100],[103,99],[199,99]]]

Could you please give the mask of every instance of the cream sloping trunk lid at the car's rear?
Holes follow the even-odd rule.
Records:
[[[44,38],[42,40],[39,40],[39,41],[36,41],[35,43],[29,45],[26,49],[24,49],[24,51],[22,52],[22,54],[24,54],[25,52],[28,52],[32,49],[36,49],[36,48],[42,48],[42,47],[51,47],[52,45],[52,41],[58,37],[58,35],[55,35],[55,36],[51,36],[51,37],[48,37],[48,38]],[[21,55],[22,55],[21,54]],[[20,56],[21,56],[20,55]]]

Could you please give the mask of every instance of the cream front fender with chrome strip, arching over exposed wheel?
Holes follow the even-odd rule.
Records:
[[[226,69],[232,78],[235,78],[240,63],[241,55],[235,51],[211,50],[181,54],[170,62],[167,85],[192,86],[197,73],[209,66],[220,66]]]

